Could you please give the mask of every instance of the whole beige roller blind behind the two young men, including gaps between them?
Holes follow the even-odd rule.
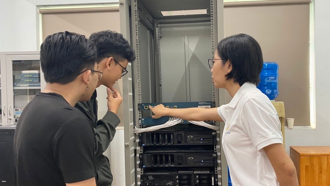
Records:
[[[75,6],[74,6],[75,7]],[[120,32],[119,6],[116,7],[97,7],[97,8],[56,8],[40,9],[42,23],[42,40],[53,33],[70,31],[85,35],[102,30],[113,30]],[[122,81],[119,79],[114,88],[122,92]],[[107,112],[107,101],[105,97],[106,87],[101,86],[96,89],[99,97],[98,119],[102,119]],[[123,104],[120,105],[117,115],[123,121]],[[123,127],[123,123],[118,125]]]

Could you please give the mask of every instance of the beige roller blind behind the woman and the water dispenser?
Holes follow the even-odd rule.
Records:
[[[295,126],[310,126],[310,1],[273,2],[225,3],[224,35],[246,33],[259,42],[264,61],[279,64],[275,100],[284,102],[285,117],[295,118]]]

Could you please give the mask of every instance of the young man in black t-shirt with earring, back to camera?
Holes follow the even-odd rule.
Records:
[[[87,101],[101,72],[94,44],[59,32],[40,47],[46,87],[27,104],[16,126],[17,186],[95,186],[93,121],[73,106]]]

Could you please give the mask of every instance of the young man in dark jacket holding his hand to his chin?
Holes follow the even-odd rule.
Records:
[[[96,184],[97,186],[110,186],[113,176],[110,171],[109,160],[103,153],[113,140],[116,127],[120,123],[116,113],[122,101],[120,93],[113,86],[118,79],[127,74],[126,67],[129,62],[135,60],[135,54],[122,34],[111,30],[93,33],[89,39],[94,42],[97,48],[96,62],[99,67],[99,74],[102,75],[97,87],[101,85],[107,87],[108,112],[101,120],[98,120],[96,91],[89,101],[78,102],[75,107],[94,120]]]

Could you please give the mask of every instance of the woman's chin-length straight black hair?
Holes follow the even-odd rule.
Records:
[[[263,57],[260,45],[247,34],[237,34],[222,39],[217,52],[225,64],[229,59],[232,64],[232,71],[225,77],[227,80],[242,86],[246,82],[258,85],[260,72],[263,66]]]

